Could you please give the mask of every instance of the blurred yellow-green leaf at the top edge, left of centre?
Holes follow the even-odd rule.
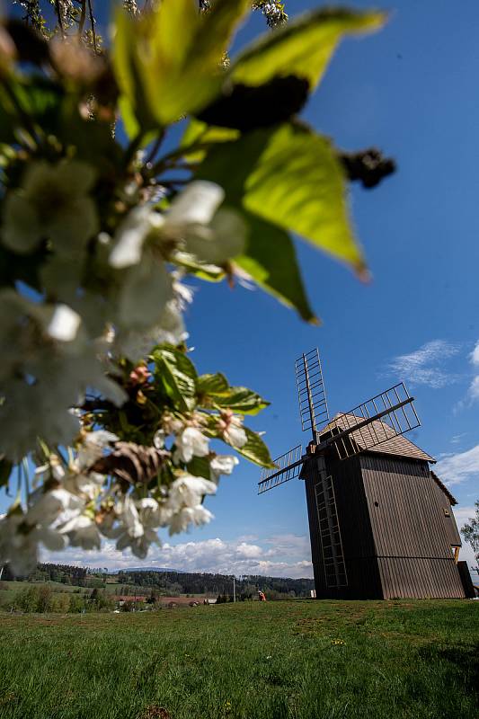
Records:
[[[142,129],[200,110],[219,92],[226,47],[250,9],[249,0],[217,0],[198,13],[193,0],[162,0],[137,18],[117,13],[113,67]]]

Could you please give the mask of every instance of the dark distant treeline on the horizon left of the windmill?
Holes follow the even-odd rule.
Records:
[[[179,572],[129,572],[118,573],[121,584],[134,584],[137,587],[163,590],[175,594],[233,594],[233,577],[226,574],[179,573]],[[289,579],[282,577],[262,577],[248,574],[236,578],[237,599],[252,599],[258,590],[265,591],[274,599],[280,594],[288,597],[309,597],[314,589],[312,579]]]

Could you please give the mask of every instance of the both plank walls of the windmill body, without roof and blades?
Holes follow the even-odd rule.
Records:
[[[448,497],[425,460],[360,454],[325,457],[333,477],[348,586],[327,587],[315,504],[319,480],[307,463],[306,501],[318,599],[462,598],[451,544],[458,533],[445,522]],[[449,519],[449,518],[447,518]]]

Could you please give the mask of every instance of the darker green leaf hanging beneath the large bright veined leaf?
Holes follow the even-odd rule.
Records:
[[[250,212],[244,213],[249,237],[244,254],[235,264],[284,305],[293,307],[311,324],[320,324],[309,305],[293,241],[285,230],[265,222]]]

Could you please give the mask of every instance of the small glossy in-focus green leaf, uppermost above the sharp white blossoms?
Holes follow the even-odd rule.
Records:
[[[182,411],[196,404],[196,369],[184,352],[173,347],[156,348],[151,357],[155,362],[155,377],[163,383],[166,395]]]

